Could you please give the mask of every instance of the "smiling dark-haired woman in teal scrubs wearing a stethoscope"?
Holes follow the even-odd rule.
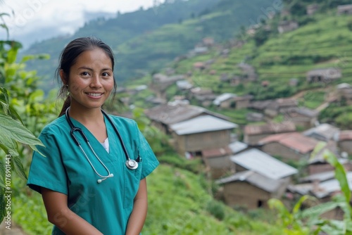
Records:
[[[75,39],[61,53],[57,72],[68,95],[39,136],[46,148],[34,151],[27,182],[42,193],[52,234],[142,231],[146,176],[158,160],[136,122],[101,110],[116,87],[113,68],[113,52],[99,39]]]

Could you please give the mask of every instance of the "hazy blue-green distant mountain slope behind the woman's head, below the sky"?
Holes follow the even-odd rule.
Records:
[[[213,37],[217,42],[231,39],[241,25],[250,25],[263,14],[260,8],[271,4],[269,0],[166,1],[109,20],[92,20],[72,36],[33,44],[23,54],[50,54],[49,61],[28,63],[28,69],[37,70],[46,78],[43,87],[47,90],[52,87],[48,84],[65,44],[76,37],[93,35],[111,45],[118,62],[118,80],[127,80],[162,68],[175,56],[192,49],[203,37]]]

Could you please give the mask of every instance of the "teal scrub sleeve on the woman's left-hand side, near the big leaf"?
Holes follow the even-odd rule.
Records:
[[[34,151],[27,186],[39,193],[41,193],[41,187],[44,187],[67,195],[67,174],[56,136],[59,134],[49,128],[44,129],[40,134],[39,139],[45,147],[37,146],[37,148],[44,156]]]

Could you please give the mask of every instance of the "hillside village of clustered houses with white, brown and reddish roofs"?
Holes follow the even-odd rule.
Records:
[[[318,5],[307,7],[307,14],[318,10]],[[352,5],[339,6],[339,14],[351,14]],[[284,11],[282,14],[286,14]],[[282,22],[279,33],[295,30],[295,22]],[[253,34],[256,27],[247,33]],[[204,38],[201,44],[189,51],[191,58],[207,53],[214,46],[212,38]],[[231,48],[241,47],[244,42],[233,42]],[[230,49],[231,49],[230,48]],[[221,49],[221,56],[227,56],[230,49]],[[208,70],[213,60],[194,63],[193,70]],[[219,75],[218,79],[226,86],[235,87],[241,82],[257,82],[256,69],[250,64],[237,65],[244,76]],[[210,70],[216,75],[216,71]],[[328,89],[325,101],[316,109],[298,105],[297,96],[256,101],[251,94],[214,94],[211,89],[203,89],[190,82],[192,71],[175,74],[172,68],[153,75],[149,86],[143,85],[127,91],[134,95],[144,89],[151,89],[156,96],[145,99],[151,108],[145,110],[152,125],[172,137],[170,143],[177,153],[187,159],[201,158],[210,179],[220,186],[217,197],[232,207],[246,209],[268,208],[270,198],[294,202],[303,195],[311,195],[320,202],[330,201],[339,192],[339,183],[334,179],[334,168],[324,158],[324,151],[330,151],[344,165],[348,181],[352,181],[352,165],[348,156],[352,155],[352,129],[339,129],[318,121],[319,113],[330,103],[352,104],[352,86],[339,83],[342,77],[340,68],[321,68],[306,71],[307,83],[337,82]],[[287,86],[296,86],[298,80],[292,78]],[[176,85],[182,96],[174,96],[170,101],[165,90]],[[267,81],[261,82],[263,87]],[[120,89],[119,92],[126,91]],[[196,101],[197,105],[191,104]],[[131,105],[130,98],[122,101]],[[253,110],[246,116],[248,122],[263,124],[238,125],[230,122],[226,115],[208,110],[207,107]],[[282,122],[275,122],[282,115]],[[239,135],[241,133],[241,135]],[[324,147],[314,152],[318,144]],[[300,166],[293,167],[294,166]],[[350,172],[351,170],[351,172]],[[341,218],[343,212],[334,210],[327,217]]]

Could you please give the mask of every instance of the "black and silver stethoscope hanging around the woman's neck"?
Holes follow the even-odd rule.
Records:
[[[108,170],[108,167],[106,167],[106,165],[101,161],[101,159],[98,157],[98,155],[96,155],[94,149],[92,148],[91,144],[89,143],[89,140],[88,140],[87,136],[83,133],[82,129],[80,129],[80,127],[75,127],[75,125],[73,125],[73,122],[70,120],[70,115],[68,114],[68,110],[69,110],[69,109],[70,109],[70,107],[68,107],[68,108],[66,109],[65,116],[66,116],[66,120],[68,121],[68,125],[70,125],[70,127],[71,127],[70,134],[71,134],[73,140],[75,141],[75,143],[77,144],[77,146],[80,147],[82,153],[84,154],[84,157],[88,160],[88,162],[89,162],[89,164],[92,166],[94,172],[95,172],[99,177],[101,177],[101,179],[98,179],[98,180],[96,181],[96,182],[98,182],[98,183],[100,184],[101,182],[103,182],[103,180],[113,177],[113,174],[111,174],[110,170]],[[114,129],[115,133],[118,135],[118,139],[120,140],[120,143],[121,143],[121,146],[122,146],[122,150],[123,150],[123,152],[125,153],[125,156],[126,156],[126,162],[125,162],[126,167],[127,167],[128,169],[130,169],[130,170],[135,170],[135,169],[137,169],[138,163],[137,163],[136,160],[131,159],[130,156],[128,155],[127,150],[126,150],[126,147],[125,147],[125,144],[124,144],[123,141],[122,141],[120,132],[118,132],[118,129],[117,129],[117,128],[115,127],[115,125],[113,124],[113,121],[112,121],[111,118],[108,116],[108,114],[105,113],[104,110],[101,110],[101,113],[103,113],[103,115],[106,116],[106,118],[108,119],[108,121],[109,121],[109,122],[111,123],[111,125],[113,126],[113,129]],[[103,176],[103,175],[99,174],[99,172],[96,171],[94,165],[93,165],[92,162],[89,160],[87,154],[86,154],[85,151],[83,150],[83,148],[82,148],[80,142],[77,140],[77,138],[76,138],[76,136],[75,136],[75,134],[74,134],[75,132],[80,132],[80,134],[81,134],[81,136],[83,137],[84,141],[88,144],[89,148],[90,148],[91,151],[94,153],[96,159],[99,160],[99,162],[101,163],[101,165],[103,165],[103,167],[105,168],[105,170],[108,172],[108,175],[107,175],[107,176]],[[137,160],[138,160],[139,162],[141,162],[141,161],[142,161],[142,158],[139,158],[139,156],[138,156]]]

